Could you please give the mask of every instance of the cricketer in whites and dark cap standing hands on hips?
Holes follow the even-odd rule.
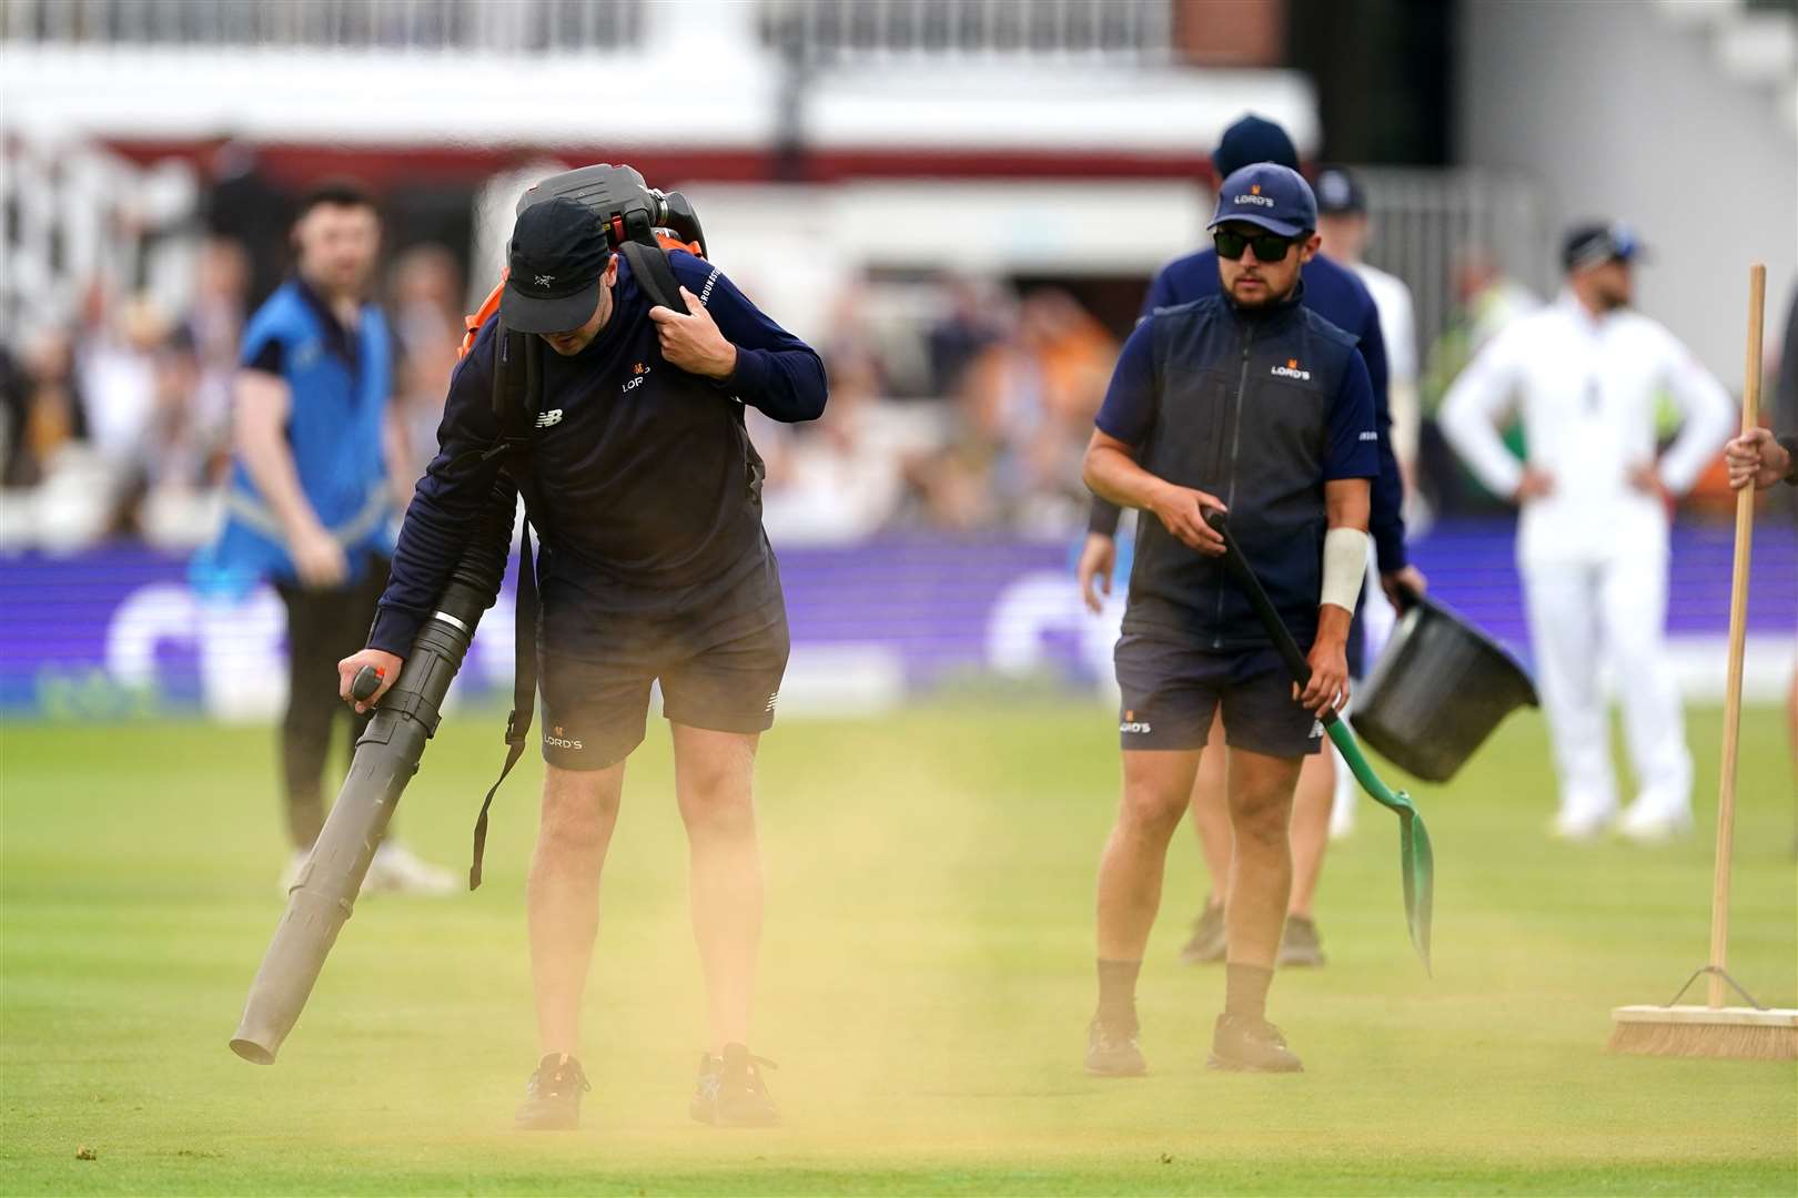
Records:
[[[1602,654],[1640,785],[1618,832],[1654,841],[1692,824],[1692,756],[1665,654],[1669,496],[1690,490],[1733,426],[1722,384],[1667,329],[1625,309],[1629,271],[1627,255],[1570,262],[1559,302],[1500,332],[1440,417],[1480,481],[1521,507],[1518,568],[1561,778],[1555,832],[1571,839],[1604,832],[1618,806]],[[1663,393],[1683,426],[1656,460]],[[1514,404],[1527,462],[1496,427]]]

